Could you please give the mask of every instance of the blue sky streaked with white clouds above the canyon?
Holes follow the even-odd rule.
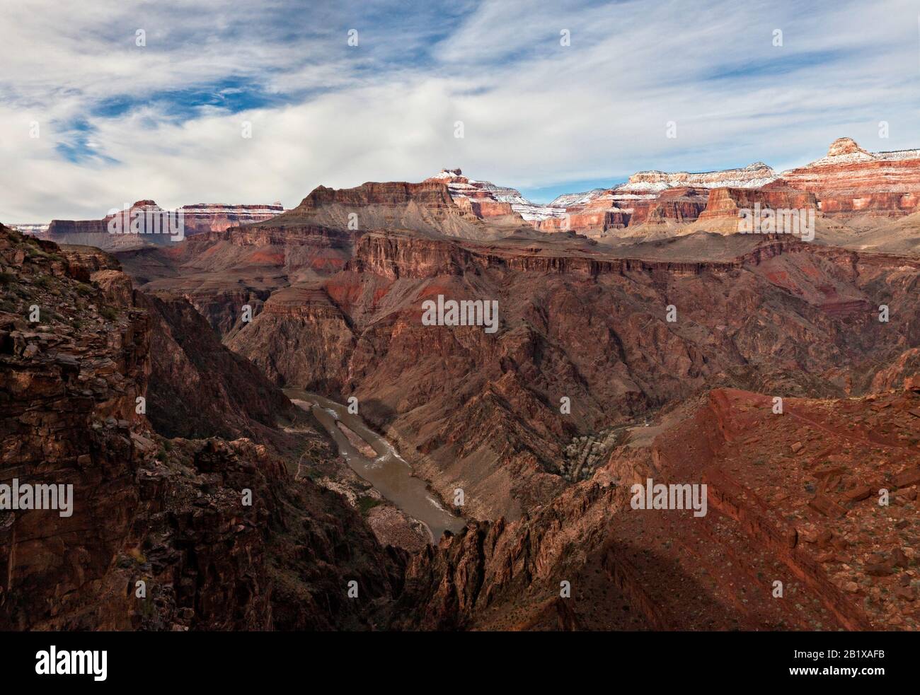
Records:
[[[915,0],[0,0],[0,45],[0,222],[920,147]]]

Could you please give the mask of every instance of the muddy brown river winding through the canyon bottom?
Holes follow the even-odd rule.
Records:
[[[440,502],[425,489],[425,482],[412,476],[412,467],[386,439],[367,427],[360,416],[351,415],[348,407],[330,401],[317,393],[303,389],[284,389],[288,398],[312,401],[311,412],[335,440],[339,454],[348,462],[351,470],[402,509],[409,517],[417,518],[431,530],[434,541],[441,538],[444,530],[454,532],[466,525],[463,518],[454,517]],[[339,421],[364,440],[376,457],[373,459],[359,451],[336,425]],[[368,451],[369,453],[369,451]]]

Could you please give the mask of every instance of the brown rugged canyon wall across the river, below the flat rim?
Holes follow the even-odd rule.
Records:
[[[917,339],[917,268],[791,239],[694,262],[368,233],[228,345],[278,383],[358,396],[445,498],[460,486],[474,516],[515,518],[558,494],[573,437],[713,383],[865,391]],[[498,301],[497,332],[422,325],[439,295]],[[883,298],[900,328],[880,325]]]

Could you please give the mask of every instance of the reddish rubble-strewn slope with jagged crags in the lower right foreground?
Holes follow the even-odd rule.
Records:
[[[917,402],[789,398],[776,415],[768,395],[702,395],[651,435],[628,429],[551,503],[414,556],[393,626],[915,630]],[[649,478],[706,484],[706,513],[634,506],[633,485]],[[874,509],[879,487],[893,492],[890,513]]]

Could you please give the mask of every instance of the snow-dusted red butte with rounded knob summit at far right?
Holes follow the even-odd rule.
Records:
[[[781,177],[814,193],[825,215],[906,215],[920,200],[920,150],[868,152],[852,138],[839,138],[826,156]]]

